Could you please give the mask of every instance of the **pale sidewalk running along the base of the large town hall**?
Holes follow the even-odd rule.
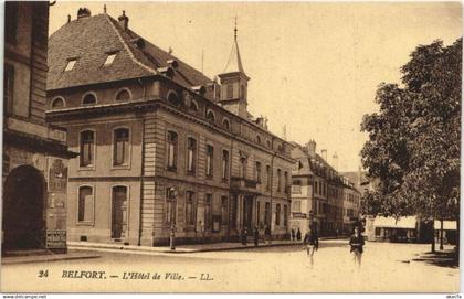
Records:
[[[319,239],[335,239],[334,237],[321,237]],[[260,242],[259,246],[254,246],[252,242],[242,245],[240,242],[221,242],[208,244],[181,244],[176,246],[176,250],[171,250],[169,246],[136,246],[123,245],[114,243],[89,243],[89,242],[67,242],[70,249],[83,250],[125,250],[125,252],[144,252],[144,253],[162,253],[162,254],[190,254],[207,252],[224,252],[224,250],[243,250],[256,249],[275,246],[302,246],[302,241],[274,239],[272,243]]]

